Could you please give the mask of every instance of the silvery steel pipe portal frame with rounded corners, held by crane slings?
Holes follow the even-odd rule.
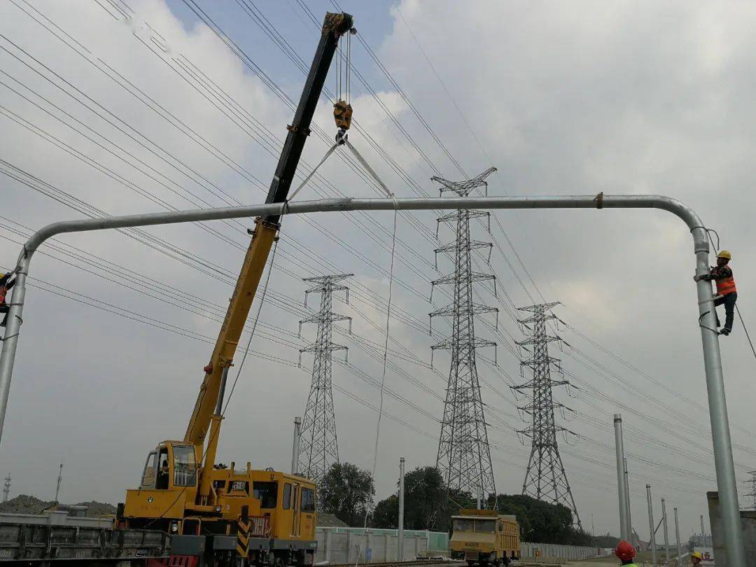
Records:
[[[693,237],[696,254],[696,275],[709,273],[708,232],[701,218],[688,206],[671,197],[660,195],[582,195],[555,197],[464,197],[457,199],[326,199],[301,203],[268,203],[265,205],[198,209],[192,211],[158,212],[147,215],[129,215],[109,218],[54,222],[37,231],[23,246],[17,263],[16,285],[11,296],[8,326],[0,352],[0,438],[8,406],[8,392],[20,337],[21,314],[26,296],[26,276],[36,249],[45,240],[67,232],[98,231],[107,228],[168,225],[181,222],[210,221],[220,218],[301,214],[304,212],[339,212],[355,210],[432,210],[432,209],[662,209],[677,215],[685,222]],[[730,421],[727,417],[727,400],[724,393],[719,334],[716,332],[711,282],[696,283],[698,294],[701,341],[704,353],[706,389],[708,393],[711,440],[714,445],[714,464],[717,471],[722,511],[722,531],[727,556],[732,567],[746,567],[743,547],[738,488],[730,441]]]

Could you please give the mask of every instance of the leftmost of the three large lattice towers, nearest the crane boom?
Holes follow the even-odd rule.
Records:
[[[308,479],[313,479],[318,485],[323,480],[327,470],[333,463],[339,462],[339,445],[336,441],[336,416],[333,412],[333,391],[331,389],[331,364],[333,351],[347,351],[347,347],[337,345],[331,340],[333,323],[349,321],[349,331],[352,331],[352,318],[334,313],[333,292],[344,291],[346,301],[349,302],[349,288],[339,282],[354,274],[335,274],[318,277],[306,277],[305,281],[312,284],[305,290],[305,306],[310,293],[321,294],[320,310],[309,318],[299,321],[299,332],[302,325],[314,323],[318,325],[318,336],[315,341],[299,351],[299,362],[302,363],[302,353],[311,352],[312,381],[310,394],[305,406],[305,417],[302,420],[302,434],[299,448],[299,473]]]

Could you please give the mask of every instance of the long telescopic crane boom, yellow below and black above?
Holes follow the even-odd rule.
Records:
[[[302,156],[302,149],[310,134],[310,124],[315,108],[318,105],[323,85],[330,68],[333,54],[339,45],[339,38],[352,29],[352,16],[349,14],[326,14],[321,40],[315,52],[310,71],[302,90],[302,97],[296,108],[293,122],[287,127],[289,134],[283,144],[278,165],[276,167],[268,197],[265,203],[283,203],[287,200],[289,190]],[[257,218],[252,241],[246,251],[234,295],[228,304],[225,320],[218,333],[215,349],[212,351],[210,364],[205,367],[205,377],[194,404],[191,420],[187,425],[184,442],[192,445],[202,445],[212,423],[214,414],[220,414],[222,399],[222,381],[228,367],[234,360],[239,339],[241,337],[249,309],[252,307],[255,293],[268,261],[279,228],[279,217],[271,215],[267,218]],[[219,426],[219,422],[218,422]],[[217,435],[211,438],[212,445],[217,444]],[[213,448],[214,449],[214,448]],[[206,463],[212,463],[215,451],[207,451]]]

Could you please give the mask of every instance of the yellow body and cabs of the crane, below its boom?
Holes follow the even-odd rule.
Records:
[[[166,441],[147,454],[139,488],[126,491],[118,522],[172,535],[237,542],[237,554],[256,565],[312,565],[315,485],[271,469],[203,469],[202,447]],[[206,458],[206,456],[204,456]],[[207,483],[206,489],[205,487]],[[218,539],[220,538],[220,539]]]

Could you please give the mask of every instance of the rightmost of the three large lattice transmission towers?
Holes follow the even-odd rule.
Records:
[[[559,302],[542,303],[519,308],[519,311],[532,313],[528,318],[519,320],[524,329],[530,330],[525,340],[517,341],[521,349],[531,352],[530,358],[520,361],[520,373],[523,379],[526,373],[530,380],[516,390],[531,389],[532,398],[528,405],[520,407],[522,411],[532,417],[531,426],[519,433],[531,438],[532,445],[528,469],[525,472],[525,482],[522,483],[522,494],[538,498],[554,504],[563,504],[572,510],[573,523],[582,528],[575,498],[567,480],[562,457],[559,455],[559,445],[556,442],[557,432],[569,432],[562,426],[557,426],[554,420],[554,407],[569,409],[562,404],[554,403],[552,389],[555,386],[568,386],[567,380],[553,380],[552,371],[559,376],[562,374],[561,361],[549,356],[549,343],[559,341],[558,336],[547,333],[546,321],[555,319],[556,315],[547,313]],[[529,347],[529,348],[528,348]]]

